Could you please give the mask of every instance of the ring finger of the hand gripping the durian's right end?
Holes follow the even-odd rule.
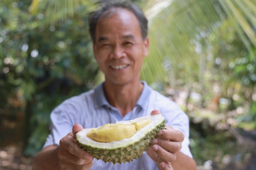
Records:
[[[157,144],[154,144],[152,146],[152,149],[154,150],[157,155],[168,162],[175,162],[176,161],[176,154],[175,153],[169,153],[168,151],[164,150],[162,147],[160,147]],[[160,164],[162,161],[157,159],[157,163]]]

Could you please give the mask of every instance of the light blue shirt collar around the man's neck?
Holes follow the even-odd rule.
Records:
[[[151,93],[151,88],[148,86],[148,84],[145,81],[141,81],[141,82],[144,84],[144,87],[136,105],[139,105],[141,108],[144,108],[146,101],[148,99],[148,96]],[[100,85],[94,88],[97,107],[102,107],[103,105],[110,106],[104,94],[104,90],[103,90],[104,83],[105,82],[102,82]]]

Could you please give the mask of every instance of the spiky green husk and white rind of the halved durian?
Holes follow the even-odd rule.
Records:
[[[150,123],[147,125],[140,125],[140,122],[142,121],[150,121]],[[106,143],[98,142],[88,137],[100,127],[97,127],[96,129],[87,128],[76,133],[76,141],[83,150],[86,150],[97,160],[102,159],[105,163],[112,162],[113,164],[122,164],[122,162],[130,162],[134,159],[140,158],[143,152],[148,150],[148,147],[151,147],[152,139],[157,137],[157,133],[161,129],[165,129],[165,120],[160,114],[144,116],[134,120],[119,121],[116,122],[116,124],[136,125],[137,132],[129,138],[119,141],[112,140],[113,142],[109,141]],[[109,125],[107,124],[107,126]],[[116,133],[116,131],[113,131],[113,133]],[[112,139],[109,137],[107,138],[108,140]],[[99,139],[99,141],[101,140],[102,139]]]

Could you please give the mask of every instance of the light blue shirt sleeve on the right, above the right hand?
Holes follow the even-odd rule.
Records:
[[[165,117],[166,125],[172,126],[184,134],[185,138],[181,144],[180,152],[192,158],[193,156],[189,149],[189,117],[172,101],[169,101],[168,105],[163,107],[160,112]]]

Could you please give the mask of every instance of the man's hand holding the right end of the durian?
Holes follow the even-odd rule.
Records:
[[[154,110],[151,114],[161,114]],[[157,139],[153,139],[153,146],[148,148],[148,156],[160,165],[161,170],[173,170],[172,164],[176,161],[176,153],[181,149],[184,135],[180,130],[176,130],[166,125],[166,130],[157,133]]]

